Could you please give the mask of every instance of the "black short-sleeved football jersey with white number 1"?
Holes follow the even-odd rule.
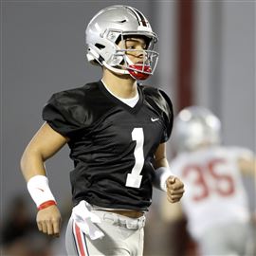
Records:
[[[152,198],[152,161],[171,135],[173,107],[167,95],[137,86],[134,107],[111,95],[102,82],[54,94],[43,119],[69,137],[73,204],[147,210]]]

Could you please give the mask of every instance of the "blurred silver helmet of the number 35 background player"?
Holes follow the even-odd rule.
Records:
[[[174,119],[174,146],[177,153],[192,151],[201,145],[221,142],[221,122],[204,107],[184,108]]]

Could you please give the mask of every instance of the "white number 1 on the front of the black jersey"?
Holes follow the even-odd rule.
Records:
[[[139,188],[142,175],[140,175],[143,165],[144,165],[144,134],[142,128],[134,128],[132,132],[132,138],[136,141],[135,147],[135,165],[131,174],[127,174],[126,178],[126,187]]]

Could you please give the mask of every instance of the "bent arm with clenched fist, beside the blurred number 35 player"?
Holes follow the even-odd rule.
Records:
[[[155,151],[154,167],[155,187],[167,192],[169,202],[178,202],[184,193],[184,184],[178,177],[175,177],[169,169],[165,143],[160,144]]]

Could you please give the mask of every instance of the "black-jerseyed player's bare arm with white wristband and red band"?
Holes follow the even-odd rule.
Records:
[[[55,155],[66,142],[67,138],[45,123],[28,143],[20,163],[28,191],[39,209],[38,229],[48,235],[59,235],[61,214],[48,187],[45,161]]]

